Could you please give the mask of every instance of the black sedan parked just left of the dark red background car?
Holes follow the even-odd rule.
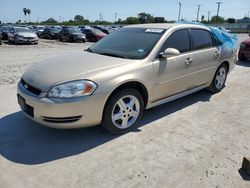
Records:
[[[59,34],[60,41],[69,42],[86,42],[86,35],[83,34],[78,27],[63,27]]]

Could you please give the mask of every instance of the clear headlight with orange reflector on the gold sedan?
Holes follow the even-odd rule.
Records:
[[[88,80],[78,80],[54,86],[49,90],[50,98],[71,98],[91,95],[97,85]]]

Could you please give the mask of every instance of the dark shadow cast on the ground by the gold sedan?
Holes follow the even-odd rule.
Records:
[[[207,102],[211,96],[209,92],[200,91],[147,110],[132,131],[141,131],[141,127],[197,102]],[[101,126],[71,130],[47,128],[33,122],[22,112],[0,119],[0,154],[7,160],[21,164],[42,164],[77,155],[118,137]]]

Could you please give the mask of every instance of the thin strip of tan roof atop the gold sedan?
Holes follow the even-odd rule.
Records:
[[[151,23],[151,24],[136,24],[128,25],[126,28],[152,28],[152,29],[169,29],[172,27],[181,27],[181,28],[197,28],[197,29],[206,29],[209,30],[205,25],[198,24],[185,24],[185,23]]]

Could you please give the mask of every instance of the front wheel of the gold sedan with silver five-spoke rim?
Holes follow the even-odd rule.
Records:
[[[141,119],[143,111],[144,100],[141,94],[136,89],[123,89],[108,100],[102,126],[113,134],[126,133]]]

